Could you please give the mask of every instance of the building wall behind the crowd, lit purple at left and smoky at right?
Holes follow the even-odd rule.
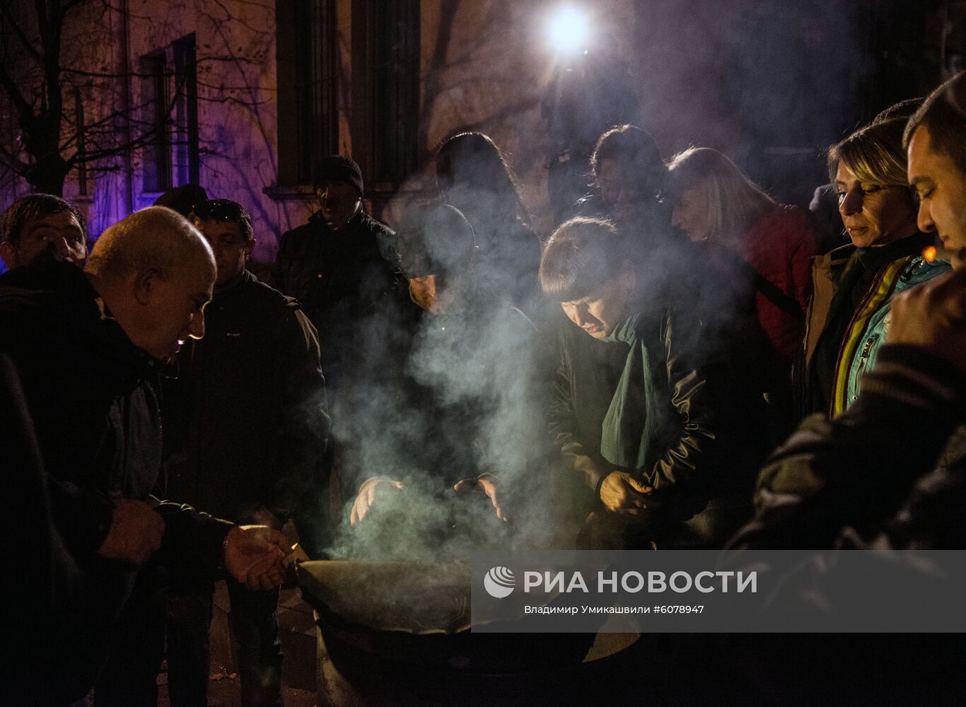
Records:
[[[335,0],[338,146],[350,156],[359,149],[352,134],[353,6],[353,0]],[[803,2],[789,8],[779,0],[726,5],[612,0],[583,6],[594,29],[588,50],[627,65],[639,98],[639,123],[654,134],[666,157],[691,144],[718,148],[791,200],[802,200],[807,186],[821,179],[823,148],[885,107],[873,105],[875,97],[867,99],[875,93],[863,88],[872,85],[869,76],[887,75],[889,62],[902,64],[902,85],[908,90],[888,96],[879,91],[879,102],[906,98],[898,93],[923,84],[914,77],[938,80],[940,65],[952,67],[963,55],[956,3],[952,10],[917,15],[922,26],[906,19],[912,14],[908,0],[880,3],[875,14],[867,3]],[[546,235],[546,165],[552,148],[541,100],[560,68],[546,33],[558,7],[555,0],[421,0],[420,166],[405,184],[391,184],[392,191],[398,187],[404,200],[432,195],[436,147],[457,130],[482,130],[508,156],[537,230]],[[875,17],[881,18],[878,24]],[[946,24],[939,21],[943,17]],[[888,26],[880,26],[886,20]],[[249,209],[259,238],[255,257],[270,261],[278,236],[315,208],[310,191],[275,188],[274,3],[117,0],[106,10],[92,3],[66,30],[66,66],[115,74],[108,79],[71,74],[87,120],[123,112],[125,103],[135,108],[136,117],[145,98],[145,82],[137,75],[140,57],[194,34],[200,182],[211,196],[237,199]],[[875,42],[886,39],[878,35],[903,31],[923,34],[906,36],[902,53],[882,58],[884,49]],[[937,49],[937,42],[923,42],[924,35],[942,35],[946,43]],[[922,66],[909,63],[913,45],[929,54],[920,58]],[[118,77],[126,74],[127,95],[125,79]],[[12,117],[3,121],[11,134]],[[121,130],[123,121],[111,125]],[[144,184],[145,159],[144,151],[136,151],[129,159],[102,162],[103,171],[96,177],[91,173],[86,194],[77,172],[71,174],[65,195],[89,212],[92,234],[155,200],[157,193]],[[0,189],[9,203],[28,187],[8,180]],[[400,207],[390,195],[372,194],[378,214],[393,222]]]

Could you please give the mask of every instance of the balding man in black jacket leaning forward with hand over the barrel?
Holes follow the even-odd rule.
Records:
[[[281,580],[284,538],[157,501],[156,372],[204,334],[211,249],[167,209],[104,232],[87,269],[53,256],[0,278],[0,354],[14,365],[43,459],[50,515],[79,570],[79,589],[35,627],[42,655],[8,665],[17,704],[87,693],[113,639],[137,568],[150,557],[198,575],[227,569],[249,587]],[[30,537],[14,543],[30,544]],[[43,587],[47,590],[49,587]],[[4,632],[6,635],[6,631]]]

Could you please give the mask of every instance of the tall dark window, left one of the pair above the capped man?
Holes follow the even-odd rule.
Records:
[[[311,184],[338,152],[335,0],[278,0],[278,183]]]

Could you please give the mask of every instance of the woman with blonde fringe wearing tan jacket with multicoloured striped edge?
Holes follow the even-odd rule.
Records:
[[[845,410],[885,340],[892,298],[949,269],[922,257],[902,149],[905,119],[873,122],[829,151],[838,212],[852,241],[815,260],[814,291],[795,392],[802,412]]]

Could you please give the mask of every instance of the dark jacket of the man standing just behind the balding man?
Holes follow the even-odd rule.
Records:
[[[328,415],[315,327],[247,270],[205,310],[163,381],[167,494],[238,523],[284,522],[324,473]],[[327,476],[327,474],[325,474]]]

